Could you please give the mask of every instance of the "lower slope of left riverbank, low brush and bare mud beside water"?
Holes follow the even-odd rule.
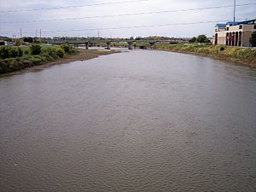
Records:
[[[116,50],[98,50],[98,49],[76,49],[71,55],[64,55],[62,58],[46,58],[41,55],[34,55],[29,58],[9,58],[8,60],[0,61],[0,77],[13,75],[27,71],[37,71],[45,67],[50,67],[57,64],[68,63],[72,61],[84,61],[96,58],[100,55],[110,55],[119,53]],[[4,62],[6,61],[6,62]],[[7,63],[7,61],[9,63]]]

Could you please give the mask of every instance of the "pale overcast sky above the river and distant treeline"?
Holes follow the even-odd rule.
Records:
[[[35,36],[36,29],[38,29],[39,36],[39,31],[41,29],[42,37],[97,37],[98,32],[100,33],[101,37],[112,38],[129,38],[131,36],[145,37],[154,35],[178,38],[193,37],[197,36],[198,34],[206,34],[208,37],[212,37],[212,34],[214,33],[215,23],[173,26],[157,25],[196,23],[215,20],[233,20],[233,8],[201,9],[150,15],[98,17],[81,20],[57,19],[72,19],[78,17],[81,18],[102,15],[138,14],[180,9],[198,9],[232,5],[233,2],[234,0],[0,0],[0,35],[9,37],[16,35],[17,37],[20,37],[21,28],[22,36]],[[245,3],[256,3],[256,0],[236,0],[236,4]],[[81,6],[69,9],[47,9],[77,5]],[[21,9],[41,10],[10,12],[10,10]],[[255,10],[256,4],[249,6],[238,6],[236,8],[236,18],[241,20],[256,19]],[[126,26],[131,26],[131,28],[119,28]],[[114,27],[119,29],[102,29]],[[97,30],[98,28],[101,29]]]

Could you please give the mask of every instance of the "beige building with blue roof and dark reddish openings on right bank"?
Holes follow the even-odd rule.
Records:
[[[249,39],[256,32],[256,20],[243,20],[216,24],[212,44],[251,47]]]

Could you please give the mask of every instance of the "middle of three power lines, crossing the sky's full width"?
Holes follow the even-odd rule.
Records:
[[[256,4],[256,3],[237,4],[236,7],[248,6],[248,5],[253,5],[253,4]],[[133,13],[133,14],[96,15],[96,16],[48,19],[48,20],[19,20],[19,21],[0,22],[0,23],[1,24],[14,24],[14,23],[30,23],[30,22],[44,22],[44,21],[49,22],[49,21],[62,21],[62,20],[85,20],[85,19],[95,19],[95,18],[123,17],[123,16],[131,16],[131,15],[166,14],[166,13],[186,12],[186,11],[205,10],[205,9],[223,9],[223,8],[233,8],[233,7],[234,7],[234,5],[223,5],[223,6],[215,6],[215,7],[196,8],[196,9],[175,9],[175,10],[151,11],[151,12]]]

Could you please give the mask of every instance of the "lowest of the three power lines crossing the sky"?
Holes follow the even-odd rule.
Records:
[[[155,27],[155,26],[188,26],[188,25],[218,23],[218,22],[227,22],[227,21],[229,21],[229,20],[208,20],[208,21],[197,21],[197,22],[187,22],[187,23],[169,23],[169,24],[143,25],[143,26],[119,26],[119,27],[98,27],[98,28],[87,28],[87,29],[52,30],[52,31],[44,31],[44,33],[104,31],[104,30],[144,28],[144,27]],[[32,32],[23,32],[23,33],[32,33]]]

